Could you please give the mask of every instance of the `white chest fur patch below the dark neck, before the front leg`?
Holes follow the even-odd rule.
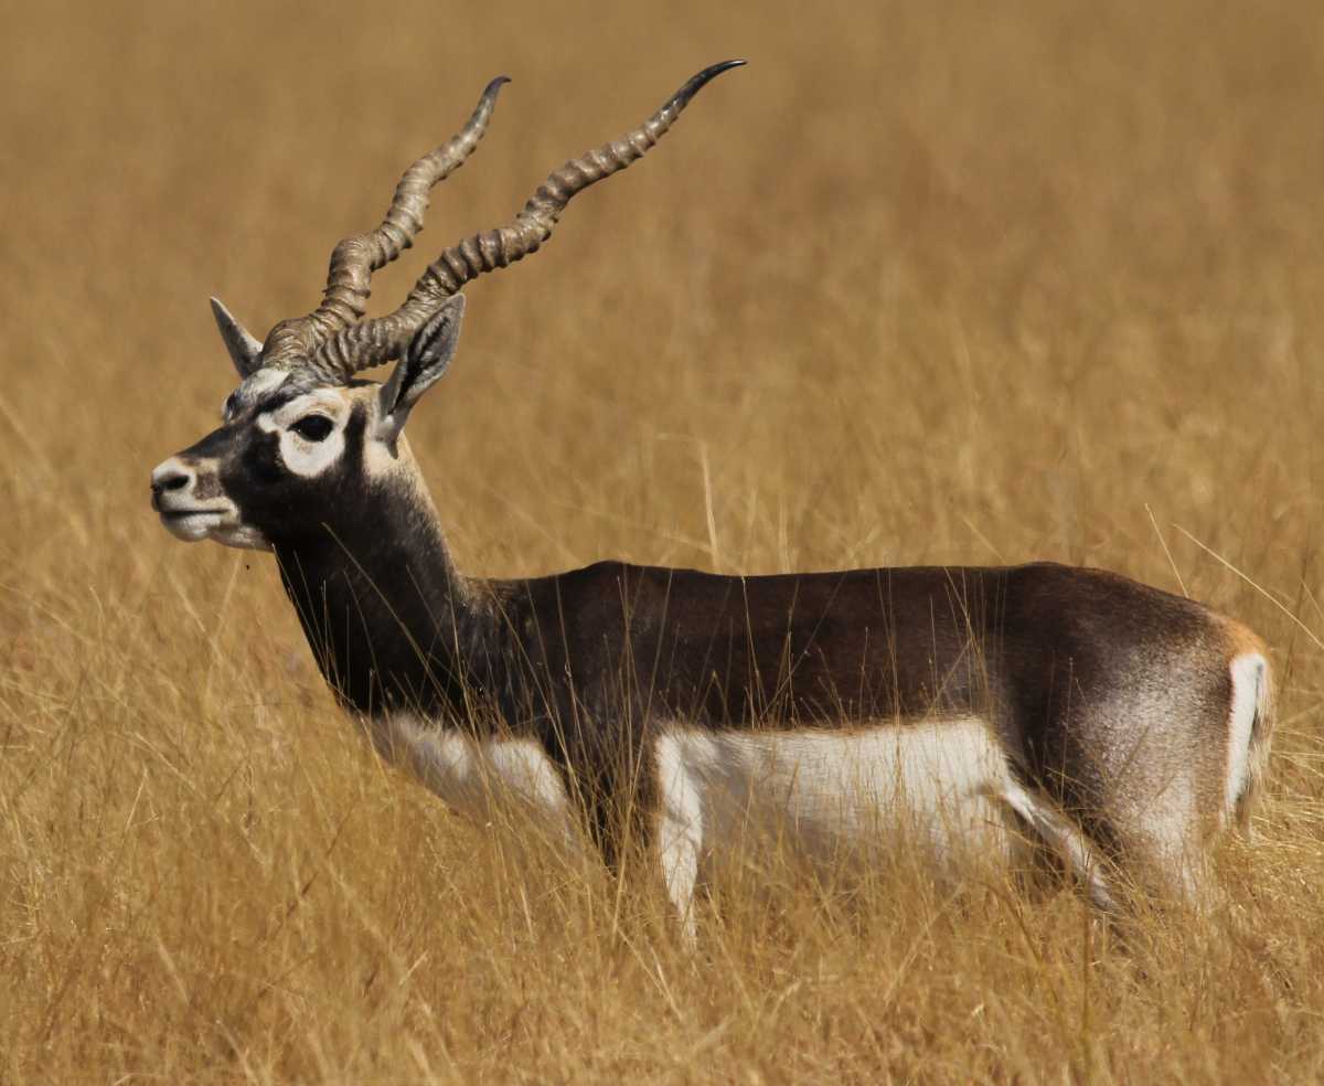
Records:
[[[561,776],[531,739],[479,739],[397,713],[372,726],[372,740],[385,759],[410,769],[457,813],[486,822],[503,805],[515,804],[555,837],[576,840]]]

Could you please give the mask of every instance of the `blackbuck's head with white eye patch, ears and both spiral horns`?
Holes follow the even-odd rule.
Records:
[[[429,191],[482,139],[507,82],[493,79],[463,128],[405,171],[381,224],[335,246],[312,313],[282,321],[258,340],[212,299],[241,383],[225,400],[220,428],[152,471],[152,507],[164,526],[184,540],[279,550],[361,517],[364,489],[402,486],[426,505],[402,430],[454,358],[461,287],[538,252],[576,193],[642,158],[704,83],[741,64],[704,69],[642,126],[567,162],[511,222],[446,249],[395,313],[364,321],[372,273],[413,244]],[[356,379],[391,362],[385,384]]]

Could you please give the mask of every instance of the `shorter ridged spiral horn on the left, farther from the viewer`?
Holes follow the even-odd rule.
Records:
[[[478,147],[496,106],[496,94],[508,82],[504,75],[498,75],[487,83],[465,127],[404,172],[381,225],[343,238],[335,246],[322,303],[307,317],[282,321],[271,330],[262,352],[263,367],[306,366],[330,335],[363,317],[372,273],[413,245],[422,230],[429,191],[463,166]]]

